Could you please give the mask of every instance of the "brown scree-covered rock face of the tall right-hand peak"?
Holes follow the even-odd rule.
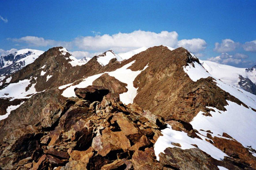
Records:
[[[192,81],[183,66],[199,61],[182,47],[173,51],[163,46],[151,47],[129,60],[136,60],[129,68],[134,71],[149,65],[133,82],[139,88],[134,102],[165,120],[189,122],[198,112],[208,112],[206,106],[225,110],[227,99],[243,104],[216,86],[211,77]]]

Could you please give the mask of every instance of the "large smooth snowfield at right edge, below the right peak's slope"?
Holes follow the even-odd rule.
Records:
[[[219,135],[225,132],[245,147],[252,146],[255,149],[256,113],[235,102],[227,102],[226,111],[209,107],[215,110],[215,112],[210,111],[211,116],[204,116],[203,112],[199,112],[190,124],[196,130],[211,130],[213,133],[211,135],[216,137],[220,137]]]

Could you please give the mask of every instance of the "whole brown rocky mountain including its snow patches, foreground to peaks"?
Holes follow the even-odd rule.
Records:
[[[0,79],[0,169],[256,169],[255,69],[215,68],[183,47],[53,47]]]

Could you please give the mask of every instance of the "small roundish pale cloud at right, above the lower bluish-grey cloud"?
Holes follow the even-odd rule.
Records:
[[[214,51],[219,53],[225,53],[229,51],[234,51],[239,46],[239,43],[234,42],[230,39],[224,39],[221,43],[215,43]]]

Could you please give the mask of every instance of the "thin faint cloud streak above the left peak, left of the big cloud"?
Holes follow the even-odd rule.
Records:
[[[70,42],[64,41],[56,41],[56,40],[45,40],[42,37],[38,36],[23,36],[21,38],[8,38],[8,40],[19,42],[19,43],[27,43],[32,47],[46,47],[46,46],[63,46],[63,47],[71,47]]]

